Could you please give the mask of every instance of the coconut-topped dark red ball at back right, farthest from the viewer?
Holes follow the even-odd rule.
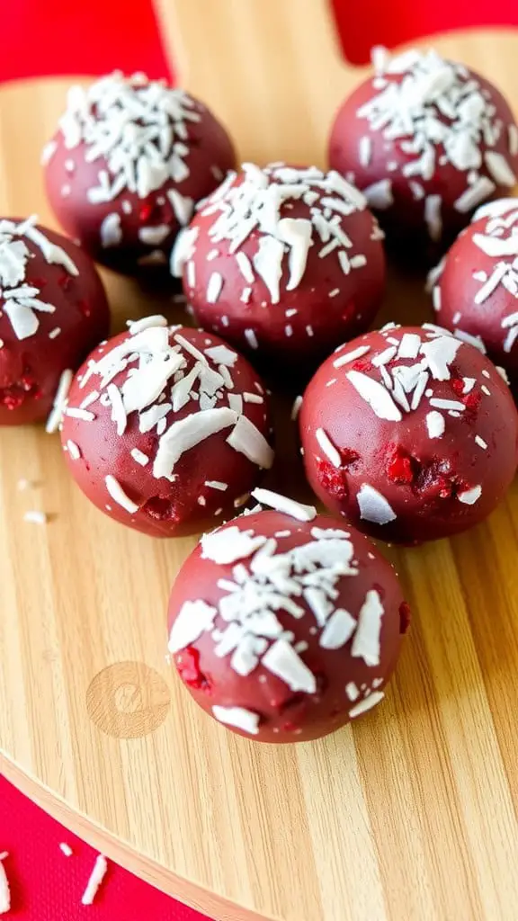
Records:
[[[364,192],[389,242],[431,257],[515,184],[518,128],[496,87],[435,51],[378,48],[373,64],[336,115],[329,162]]]

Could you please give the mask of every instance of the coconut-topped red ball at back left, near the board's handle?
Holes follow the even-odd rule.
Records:
[[[194,204],[235,166],[229,135],[200,101],[120,72],[71,87],[42,160],[67,233],[129,274],[167,265]]]

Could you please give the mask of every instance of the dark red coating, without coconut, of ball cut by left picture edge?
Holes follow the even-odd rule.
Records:
[[[11,218],[9,218],[10,220]],[[18,218],[12,218],[19,224]],[[23,285],[41,291],[41,300],[52,304],[53,313],[38,311],[39,327],[26,339],[18,339],[0,291],[0,425],[18,426],[42,422],[49,415],[63,371],[75,371],[90,349],[110,329],[110,309],[95,266],[86,252],[71,240],[47,227],[36,226],[61,247],[77,267],[70,274],[63,265],[50,264],[41,249],[23,239],[32,258]],[[59,329],[55,338],[49,333]]]

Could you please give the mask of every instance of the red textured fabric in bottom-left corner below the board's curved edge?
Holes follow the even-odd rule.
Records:
[[[70,845],[65,857],[59,845]],[[206,921],[108,861],[92,905],[82,905],[98,852],[22,796],[0,776],[0,853],[11,890],[6,921]]]

